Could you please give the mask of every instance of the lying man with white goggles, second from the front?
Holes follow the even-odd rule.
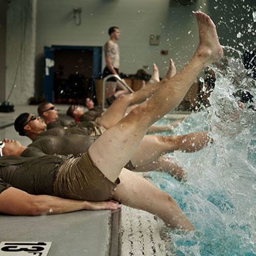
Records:
[[[22,157],[44,156],[59,154],[75,156],[87,152],[99,136],[83,136],[70,134],[67,136],[44,136],[28,147],[22,146],[17,140],[4,139],[3,156],[16,155]],[[204,148],[209,141],[207,131],[191,134],[145,135],[134,156],[125,168],[135,172],[149,172],[158,170],[168,172],[178,180],[186,180],[186,171],[180,167],[173,157],[166,154],[181,150],[182,152],[196,152]]]

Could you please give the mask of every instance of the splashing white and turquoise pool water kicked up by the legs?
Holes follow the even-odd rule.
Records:
[[[256,255],[256,111],[239,108],[232,94],[239,88],[248,90],[256,104],[256,81],[244,69],[241,52],[236,54],[212,66],[216,84],[211,107],[177,127],[177,134],[208,128],[214,140],[193,154],[175,152],[188,171],[188,182],[163,173],[152,175],[196,227],[188,234],[170,231],[175,255]]]

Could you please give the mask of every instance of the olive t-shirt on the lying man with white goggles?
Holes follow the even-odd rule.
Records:
[[[79,134],[70,134],[63,137],[44,136],[28,145],[28,148],[20,156],[77,155],[87,152],[97,138],[99,136],[83,136]]]

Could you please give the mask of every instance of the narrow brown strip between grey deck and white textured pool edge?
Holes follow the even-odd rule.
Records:
[[[109,240],[108,255],[121,255],[122,253],[122,210],[116,210],[111,213],[111,230]]]

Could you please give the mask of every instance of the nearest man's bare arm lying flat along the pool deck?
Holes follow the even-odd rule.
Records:
[[[90,202],[70,200],[57,196],[30,195],[17,188],[5,189],[0,194],[0,212],[12,215],[59,214],[81,210],[116,210],[121,205],[115,201]]]

